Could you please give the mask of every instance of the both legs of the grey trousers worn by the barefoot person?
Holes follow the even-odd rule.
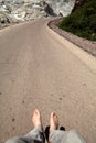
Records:
[[[51,143],[86,143],[76,130],[60,131],[55,130],[50,135]],[[33,129],[24,136],[17,136],[6,143],[44,143],[44,134],[40,129]]]

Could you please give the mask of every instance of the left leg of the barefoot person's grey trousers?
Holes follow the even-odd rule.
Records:
[[[15,136],[6,141],[6,143],[44,143],[44,133],[41,129],[34,128],[24,136]]]

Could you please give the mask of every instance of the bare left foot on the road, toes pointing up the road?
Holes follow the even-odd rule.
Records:
[[[34,128],[42,129],[41,114],[38,109],[35,109],[33,112],[32,122],[33,122]]]

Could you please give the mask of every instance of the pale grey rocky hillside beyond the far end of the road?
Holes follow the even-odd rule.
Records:
[[[11,23],[67,15],[75,0],[0,0],[0,28]]]

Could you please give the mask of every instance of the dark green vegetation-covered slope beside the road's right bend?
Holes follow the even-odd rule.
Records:
[[[64,18],[58,28],[77,36],[96,41],[96,0],[87,0],[82,8]]]

